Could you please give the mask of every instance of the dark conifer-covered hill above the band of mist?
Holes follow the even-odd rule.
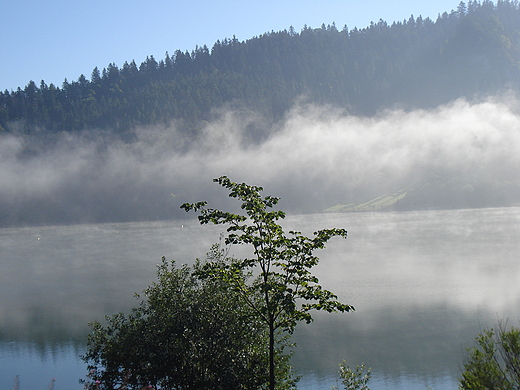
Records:
[[[269,124],[302,97],[372,115],[508,89],[520,89],[519,3],[469,1],[435,21],[289,28],[150,56],[139,66],[109,64],[61,86],[30,81],[0,93],[0,131],[126,132],[172,120],[194,131],[223,106],[252,110]]]

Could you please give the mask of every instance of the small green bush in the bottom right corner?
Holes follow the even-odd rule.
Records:
[[[520,389],[520,329],[484,330],[468,349],[468,358],[460,379],[465,390]]]

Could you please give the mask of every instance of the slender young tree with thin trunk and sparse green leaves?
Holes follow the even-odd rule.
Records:
[[[245,215],[207,208],[207,202],[185,203],[186,211],[200,211],[201,224],[228,225],[226,245],[246,244],[253,248],[252,258],[235,259],[218,269],[207,268],[207,275],[218,275],[233,286],[254,310],[256,317],[267,325],[269,332],[269,388],[276,387],[276,342],[282,334],[291,334],[299,321],[312,321],[310,311],[348,312],[354,307],[340,303],[336,295],[323,289],[311,268],[319,259],[313,253],[323,249],[332,237],[347,237],[344,229],[323,229],[314,237],[300,232],[286,234],[278,220],[282,211],[271,210],[279,198],[262,197],[262,187],[234,183],[228,177],[214,179],[227,188],[229,196],[242,202]],[[256,273],[255,273],[256,272]],[[257,275],[243,278],[243,275]],[[257,299],[258,296],[261,299]]]

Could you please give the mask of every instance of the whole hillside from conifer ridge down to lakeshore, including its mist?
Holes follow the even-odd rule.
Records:
[[[304,27],[0,93],[0,226],[185,217],[222,174],[292,213],[520,204],[520,5]]]

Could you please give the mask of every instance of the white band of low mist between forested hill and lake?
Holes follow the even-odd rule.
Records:
[[[220,207],[227,201],[212,183],[221,175],[263,186],[292,213],[425,183],[439,197],[439,188],[454,180],[468,194],[486,187],[478,207],[508,206],[520,202],[511,190],[520,181],[519,107],[516,97],[503,95],[363,118],[298,105],[261,143],[247,141],[251,124],[261,119],[231,110],[216,115],[196,142],[186,142],[175,125],[138,129],[132,142],[92,131],[63,133],[52,142],[4,134],[0,225],[184,217],[183,202]]]

